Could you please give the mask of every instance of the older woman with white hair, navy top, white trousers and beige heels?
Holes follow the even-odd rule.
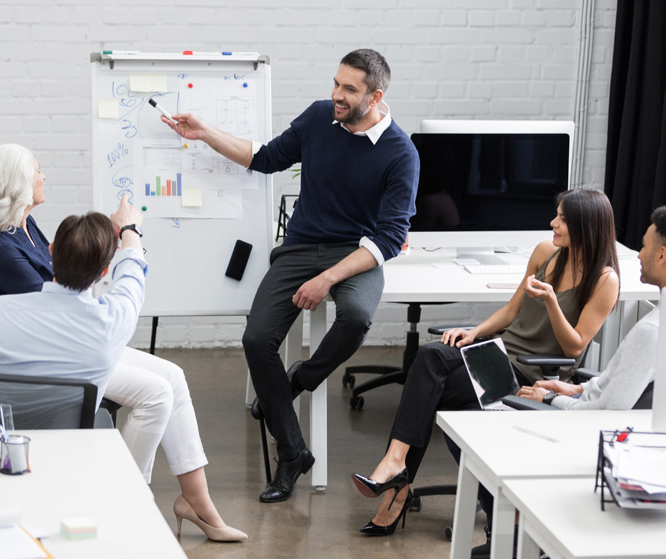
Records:
[[[45,201],[44,181],[29,150],[0,145],[0,295],[41,291],[44,282],[53,280],[49,242],[30,215]],[[210,539],[246,539],[224,523],[210,498],[204,472],[208,461],[183,370],[126,347],[104,395],[130,409],[122,436],[147,482],[162,444],[182,490],[173,507],[178,533],[186,518]]]

